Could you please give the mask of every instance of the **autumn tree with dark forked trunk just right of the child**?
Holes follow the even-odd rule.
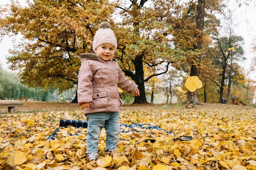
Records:
[[[176,50],[170,44],[170,23],[166,21],[166,16],[171,13],[175,2],[118,0],[117,3],[121,22],[117,23],[120,50],[117,51],[116,58],[125,75],[131,77],[139,86],[140,96],[135,97],[134,103],[146,103],[144,83],[152,77],[166,73],[175,56]],[[147,76],[144,67],[148,71],[150,68],[152,70]]]

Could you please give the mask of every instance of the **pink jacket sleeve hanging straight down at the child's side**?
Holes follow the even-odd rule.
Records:
[[[89,61],[82,59],[78,73],[77,99],[78,104],[92,102],[92,70]]]

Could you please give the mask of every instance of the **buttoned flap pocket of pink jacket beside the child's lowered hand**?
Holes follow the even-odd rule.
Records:
[[[90,108],[102,108],[108,106],[108,94],[106,91],[93,93]]]

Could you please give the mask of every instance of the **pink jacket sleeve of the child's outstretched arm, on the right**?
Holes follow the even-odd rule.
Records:
[[[119,67],[119,66],[118,66]],[[138,85],[135,84],[134,82],[132,82],[130,79],[128,79],[127,77],[125,77],[124,73],[121,71],[121,68],[119,67],[118,70],[118,84],[117,86],[119,88],[121,88],[122,90],[128,92],[128,93],[134,93],[137,88]]]

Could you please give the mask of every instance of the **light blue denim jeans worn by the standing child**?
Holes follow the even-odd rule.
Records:
[[[103,127],[107,134],[105,150],[115,150],[120,131],[119,112],[88,113],[86,119],[88,122],[86,153],[99,152],[99,136]]]

